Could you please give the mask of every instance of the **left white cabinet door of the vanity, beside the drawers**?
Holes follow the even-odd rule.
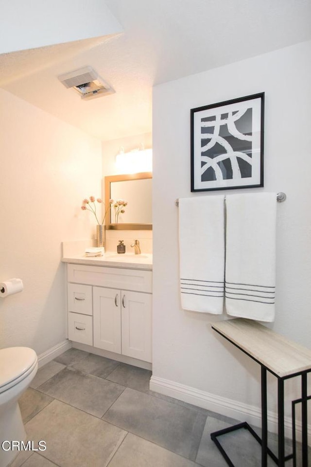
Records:
[[[94,347],[121,354],[121,293],[93,287]]]

